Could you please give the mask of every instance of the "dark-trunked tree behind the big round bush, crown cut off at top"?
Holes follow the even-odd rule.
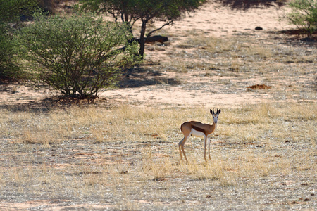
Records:
[[[142,22],[140,29],[139,55],[144,56],[144,36],[149,37],[153,32],[160,30],[166,25],[172,25],[176,20],[187,12],[199,8],[206,0],[82,0],[84,9],[109,13],[116,21],[128,23],[132,27],[137,20]],[[163,21],[163,24],[150,32],[147,31],[147,24],[156,20]]]

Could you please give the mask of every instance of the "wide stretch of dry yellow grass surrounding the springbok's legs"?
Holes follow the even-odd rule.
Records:
[[[185,144],[188,165],[180,162],[178,126],[188,119],[210,122],[206,108],[1,110],[1,200],[101,203],[120,210],[193,204],[204,209],[222,193],[223,202],[234,194],[251,210],[267,205],[313,209],[316,107],[222,108],[211,162],[203,160],[201,139],[192,138]]]

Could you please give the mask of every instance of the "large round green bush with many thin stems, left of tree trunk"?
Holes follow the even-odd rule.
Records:
[[[66,96],[95,98],[137,63],[136,44],[128,44],[124,25],[90,15],[69,18],[39,15],[23,27],[20,41],[38,79]]]

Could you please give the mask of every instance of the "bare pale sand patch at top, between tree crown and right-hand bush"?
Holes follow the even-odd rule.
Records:
[[[285,14],[285,7],[256,6],[248,10],[238,10],[209,2],[197,13],[187,15],[170,30],[181,37],[184,31],[203,31],[213,37],[228,37],[232,34],[254,31],[262,27],[264,33],[273,30],[287,30],[290,25],[279,19]]]

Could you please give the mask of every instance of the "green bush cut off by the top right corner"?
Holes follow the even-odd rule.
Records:
[[[317,30],[317,0],[294,0],[288,5],[292,9],[287,14],[291,24],[304,28],[308,34]]]

